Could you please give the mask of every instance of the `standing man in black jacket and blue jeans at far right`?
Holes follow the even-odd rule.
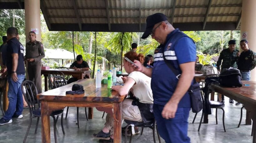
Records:
[[[241,49],[244,50],[237,62],[238,69],[242,74],[242,80],[251,79],[251,70],[256,66],[256,53],[248,48],[248,41],[240,41]]]

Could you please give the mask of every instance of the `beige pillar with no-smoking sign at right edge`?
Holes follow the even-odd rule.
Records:
[[[246,39],[249,42],[249,49],[256,52],[256,1],[243,0],[240,40]],[[241,51],[241,48],[240,48]],[[256,69],[251,71],[251,80],[256,81]]]

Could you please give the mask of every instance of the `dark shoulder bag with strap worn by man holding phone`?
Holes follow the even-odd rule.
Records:
[[[165,54],[163,51],[163,58],[165,60],[166,65],[172,70],[172,72],[176,75],[176,78],[180,78],[180,72],[166,60]],[[193,84],[190,86],[189,90],[190,95],[190,104],[193,113],[198,113],[203,109],[203,102],[201,98],[200,85],[196,82],[195,78],[193,79]]]

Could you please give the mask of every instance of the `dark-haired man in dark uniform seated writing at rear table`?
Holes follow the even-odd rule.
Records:
[[[82,55],[77,55],[76,61],[74,61],[69,68],[75,69],[75,70],[89,70],[89,65],[86,61],[83,60]],[[67,84],[75,82],[77,80],[78,80],[77,78],[69,78],[69,80],[67,81]]]

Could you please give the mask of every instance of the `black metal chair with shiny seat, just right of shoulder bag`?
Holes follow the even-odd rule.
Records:
[[[209,94],[208,94],[209,95]],[[204,112],[205,112],[205,104],[204,104],[204,94],[201,90],[201,97],[202,97],[202,101],[203,101],[203,110],[202,110],[202,116],[201,116],[201,120],[200,120],[200,124],[199,124],[199,127],[198,127],[198,132],[200,131],[200,127],[201,127],[201,124],[202,124],[202,120],[203,120],[203,117],[204,117]],[[207,98],[207,100],[209,100],[209,98]],[[219,102],[219,101],[209,101],[209,105],[210,105],[210,108],[215,108],[216,109],[216,115],[215,115],[215,118],[216,118],[216,124],[218,124],[218,114],[217,114],[217,109],[222,109],[223,111],[223,115],[222,115],[222,122],[223,122],[223,128],[224,128],[224,132],[226,132],[226,128],[225,128],[225,122],[224,122],[224,117],[225,117],[225,111],[223,109],[223,107],[225,106],[224,103],[222,102]],[[193,122],[194,123],[194,120],[196,118],[196,115],[197,113],[195,114],[194,116],[194,119],[193,119]]]

